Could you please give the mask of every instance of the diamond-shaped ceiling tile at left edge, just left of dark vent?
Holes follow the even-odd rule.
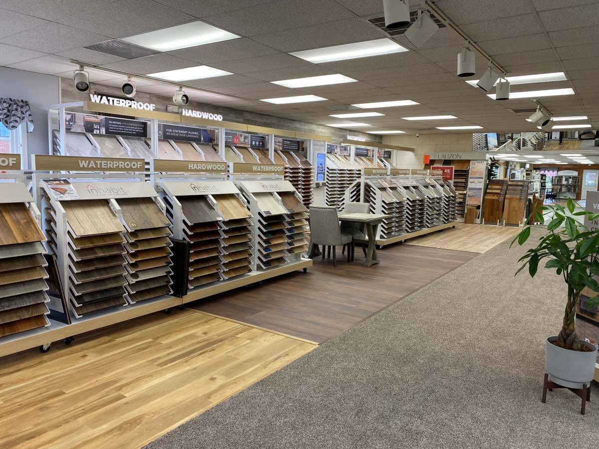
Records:
[[[49,22],[35,28],[35,32],[22,31],[9,37],[2,38],[0,43],[29,48],[29,50],[44,53],[59,53],[71,48],[85,47],[97,44],[107,38],[60,23]]]

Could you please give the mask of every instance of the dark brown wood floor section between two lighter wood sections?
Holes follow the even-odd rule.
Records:
[[[368,268],[362,266],[359,248],[352,263],[340,255],[337,268],[318,256],[306,274],[294,272],[190,307],[323,342],[476,256],[414,245],[395,245],[377,254],[381,263]]]

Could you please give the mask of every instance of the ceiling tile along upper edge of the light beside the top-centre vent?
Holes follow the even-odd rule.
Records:
[[[259,34],[253,39],[277,50],[288,52],[350,44],[381,37],[382,34],[376,27],[363,19],[353,18]]]

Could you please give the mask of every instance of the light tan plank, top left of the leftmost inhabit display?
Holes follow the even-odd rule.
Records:
[[[77,237],[122,232],[125,227],[105,199],[61,201],[66,220]]]

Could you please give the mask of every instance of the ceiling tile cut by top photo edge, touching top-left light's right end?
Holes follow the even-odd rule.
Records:
[[[353,14],[334,0],[278,0],[204,17],[203,20],[249,37],[260,34],[264,29],[276,32],[349,17]]]

